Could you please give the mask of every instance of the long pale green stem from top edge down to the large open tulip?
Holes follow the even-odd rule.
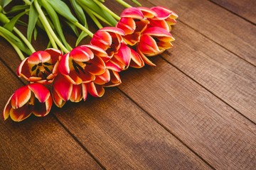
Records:
[[[58,39],[57,35],[55,35],[53,29],[50,27],[50,23],[47,21],[47,18],[44,15],[41,7],[39,6],[38,1],[35,0],[33,2],[35,4],[36,10],[38,11],[39,18],[41,19],[41,23],[43,23],[43,26],[45,27],[45,29],[49,31],[50,35],[53,37],[53,40],[60,47],[60,49],[63,50],[63,52],[68,53],[69,50],[63,45],[62,42],[60,42],[60,40]]]

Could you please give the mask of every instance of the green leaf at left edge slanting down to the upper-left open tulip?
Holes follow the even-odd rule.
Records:
[[[0,26],[0,32],[4,34],[8,40],[13,42],[21,51],[25,52],[27,55],[31,55],[31,50],[29,50],[28,47],[19,38],[16,37],[16,35],[11,33],[11,31]]]

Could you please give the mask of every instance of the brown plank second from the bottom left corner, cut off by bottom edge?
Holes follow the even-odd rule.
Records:
[[[56,116],[107,169],[210,169],[115,88]]]

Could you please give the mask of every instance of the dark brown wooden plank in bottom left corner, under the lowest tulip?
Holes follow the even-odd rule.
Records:
[[[14,56],[14,52],[4,52],[6,56]],[[3,111],[9,96],[22,84],[3,62],[0,68]],[[51,115],[32,116],[21,123],[1,119],[0,143],[0,169],[100,169]]]

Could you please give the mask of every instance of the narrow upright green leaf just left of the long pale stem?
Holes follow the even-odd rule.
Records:
[[[38,12],[36,11],[36,7],[32,3],[29,8],[29,14],[28,14],[27,37],[29,42],[31,42],[33,29],[36,26],[36,21],[38,21]]]

